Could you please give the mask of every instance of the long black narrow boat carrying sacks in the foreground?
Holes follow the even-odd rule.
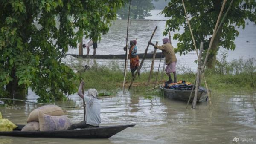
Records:
[[[74,130],[55,130],[46,132],[29,132],[20,131],[25,125],[17,125],[18,127],[12,132],[0,132],[0,136],[16,136],[16,137],[44,137],[44,138],[110,138],[118,132],[134,127],[135,124],[117,125],[117,126],[101,126],[90,127]]]

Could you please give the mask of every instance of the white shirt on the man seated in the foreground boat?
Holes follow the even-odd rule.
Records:
[[[92,126],[99,126],[101,123],[101,118],[100,118],[100,102],[98,99],[93,98],[93,103],[91,106],[89,106],[89,101],[93,97],[91,96],[86,96],[84,95],[84,101],[86,102],[86,114],[85,114],[85,121],[86,124],[90,124]]]

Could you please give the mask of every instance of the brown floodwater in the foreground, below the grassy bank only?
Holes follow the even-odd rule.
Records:
[[[28,100],[38,98],[29,91]],[[57,102],[78,108],[64,108],[73,123],[83,120],[82,101],[70,95],[73,102]],[[128,92],[101,99],[101,125],[136,124],[109,139],[17,138],[0,136],[0,144],[70,144],[70,143],[140,143],[205,144],[232,143],[233,138],[253,138],[256,143],[256,112],[252,101],[256,92],[213,95],[212,106],[199,104],[186,109],[186,102],[161,97],[146,99]],[[18,102],[17,107],[1,107],[4,118],[15,124],[26,124],[29,113],[41,105]]]

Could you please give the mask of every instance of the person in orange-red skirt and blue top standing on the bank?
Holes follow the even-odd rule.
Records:
[[[130,69],[131,69],[131,76],[134,77],[134,72],[137,70],[138,75],[140,77],[140,69],[139,64],[139,56],[137,55],[137,41],[136,40],[131,40],[130,41],[130,47],[129,47],[129,58],[130,58]],[[124,47],[124,51],[126,51],[127,48],[126,46]]]

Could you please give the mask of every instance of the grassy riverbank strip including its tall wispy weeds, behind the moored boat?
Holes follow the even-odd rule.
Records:
[[[255,59],[248,60],[233,60],[226,62],[220,60],[215,69],[207,69],[205,77],[208,87],[212,92],[251,92],[256,88],[256,66]],[[113,65],[115,65],[113,63]],[[80,68],[82,66],[79,66]],[[123,70],[118,66],[99,66],[94,64],[90,70],[81,72],[82,69],[77,69],[78,75],[85,81],[85,89],[95,88],[101,91],[118,92],[122,90],[123,84]],[[129,69],[128,69],[129,70]],[[162,69],[161,69],[162,71]],[[157,78],[157,84],[163,84],[168,79],[166,74],[163,74],[163,80],[161,81],[161,73],[159,72]],[[150,83],[148,83],[149,72],[143,72],[140,78],[136,78],[130,91],[133,95],[160,95],[160,92],[156,90],[149,90],[154,87],[157,72],[153,72]],[[177,69],[177,80],[184,80],[191,82],[195,81],[196,74],[190,69],[180,66]],[[131,83],[132,77],[130,70],[128,71],[125,88],[128,88]],[[79,82],[77,82],[79,84]],[[204,86],[204,81],[201,81],[201,86]]]

